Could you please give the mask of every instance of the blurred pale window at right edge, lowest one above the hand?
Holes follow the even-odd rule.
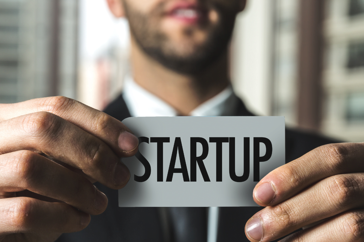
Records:
[[[351,93],[347,96],[347,121],[364,121],[364,93]]]

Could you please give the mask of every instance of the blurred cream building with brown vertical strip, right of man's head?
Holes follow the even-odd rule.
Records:
[[[364,0],[256,0],[246,10],[232,62],[248,107],[364,141]]]

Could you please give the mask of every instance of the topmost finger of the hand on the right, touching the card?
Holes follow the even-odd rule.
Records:
[[[254,188],[261,206],[276,205],[326,177],[364,172],[364,143],[329,144],[275,169]]]

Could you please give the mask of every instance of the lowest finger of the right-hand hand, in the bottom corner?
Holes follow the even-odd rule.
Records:
[[[289,235],[280,242],[362,242],[364,210],[351,210],[309,229]]]

